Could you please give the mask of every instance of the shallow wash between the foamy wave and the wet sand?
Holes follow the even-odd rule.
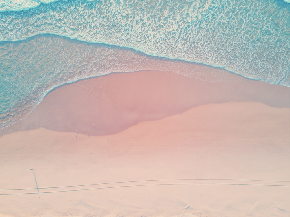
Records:
[[[24,116],[18,117],[27,109],[26,105],[29,105],[28,112],[30,112],[35,108],[37,103],[43,100],[48,90],[52,90],[53,87],[84,77],[106,74],[107,72],[167,70],[204,81],[254,81],[233,74],[223,68],[214,68],[203,65],[202,63],[147,56],[129,48],[81,43],[73,39],[47,34],[28,38],[28,41],[24,40],[17,43],[7,42],[1,43],[1,45],[6,52],[9,53],[10,48],[14,47],[13,52],[17,53],[13,58],[10,56],[7,61],[3,62],[3,67],[9,70],[3,74],[6,79],[2,83],[2,88],[3,96],[6,99],[4,97],[1,99],[1,102],[3,101],[3,109],[0,111],[1,127],[10,125],[14,122],[12,119],[23,119]],[[77,49],[67,50],[68,48],[74,47],[74,45],[77,46]],[[37,52],[34,50],[35,47],[39,48]],[[47,48],[51,48],[51,50]],[[75,58],[69,59],[66,52],[63,52],[64,50],[74,54]],[[29,52],[26,53],[26,51]],[[86,58],[80,58],[78,56],[79,52],[84,52],[83,55]],[[115,53],[114,56],[111,56],[112,52]],[[31,56],[31,59],[35,59],[35,62],[32,61],[27,65],[25,60],[20,58],[23,55]],[[56,58],[58,55],[60,58]],[[50,59],[46,59],[46,57]],[[45,63],[44,65],[39,65],[39,62],[36,61],[39,58]],[[130,59],[134,59],[134,61],[129,61]],[[17,68],[13,64],[15,61],[17,65],[23,67]],[[53,62],[55,64],[52,64]],[[74,64],[71,65],[71,62],[74,62]],[[29,65],[35,65],[38,70],[32,71],[31,74],[26,74],[26,71],[30,70]],[[62,67],[66,70],[62,71]],[[42,71],[41,69],[44,70]],[[19,77],[26,77],[26,79],[18,79],[14,75],[13,70],[19,71]],[[23,100],[23,96],[27,96],[25,101]],[[15,105],[15,102],[19,103]],[[14,107],[12,108],[13,105]]]

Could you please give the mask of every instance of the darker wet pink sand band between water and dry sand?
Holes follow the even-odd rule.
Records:
[[[26,118],[0,130],[0,136],[38,127],[75,132],[84,125],[79,132],[112,134],[207,103],[258,101],[290,107],[289,96],[290,88],[262,81],[208,82],[169,71],[112,73],[56,87]],[[70,125],[65,124],[67,119]],[[93,124],[99,134],[92,130]]]

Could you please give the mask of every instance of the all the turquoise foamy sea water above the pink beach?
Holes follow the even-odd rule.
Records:
[[[290,4],[282,0],[3,0],[0,129],[54,87],[112,72],[167,68],[290,86],[289,53]],[[192,63],[218,68],[205,76]]]

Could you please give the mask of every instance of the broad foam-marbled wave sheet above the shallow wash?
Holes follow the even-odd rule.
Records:
[[[133,48],[289,86],[283,1],[55,1],[0,13],[0,41],[42,33]]]

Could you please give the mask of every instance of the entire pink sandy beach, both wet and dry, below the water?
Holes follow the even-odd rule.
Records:
[[[288,94],[171,72],[59,87],[0,131],[0,216],[289,216]]]

